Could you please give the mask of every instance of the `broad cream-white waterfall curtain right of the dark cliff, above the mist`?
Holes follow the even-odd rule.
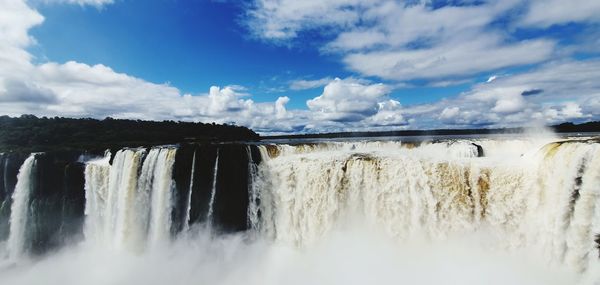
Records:
[[[500,248],[532,248],[580,272],[598,266],[600,144],[474,143],[490,156],[460,141],[260,146],[260,230],[303,247],[351,217],[400,241],[485,228]]]

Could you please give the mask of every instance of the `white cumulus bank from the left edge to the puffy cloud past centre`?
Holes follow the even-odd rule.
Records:
[[[292,82],[297,89],[325,87],[321,95],[307,101],[309,110],[288,110],[289,97],[256,103],[241,86],[212,86],[207,93],[185,94],[169,84],[148,82],[103,64],[33,64],[26,48],[35,40],[28,31],[42,23],[43,17],[23,1],[10,1],[3,2],[6,9],[0,11],[10,10],[11,17],[19,21],[0,20],[0,32],[8,39],[0,47],[21,57],[0,57],[3,114],[235,123],[263,133],[354,130],[404,123],[400,103],[388,98],[389,86],[356,78]]]

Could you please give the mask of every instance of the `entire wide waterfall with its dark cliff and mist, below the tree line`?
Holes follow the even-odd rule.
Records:
[[[600,280],[598,138],[163,146],[21,164],[3,188],[19,230],[0,235],[0,284]]]

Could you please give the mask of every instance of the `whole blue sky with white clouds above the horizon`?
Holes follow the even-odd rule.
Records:
[[[596,0],[0,0],[0,115],[263,134],[600,120]]]

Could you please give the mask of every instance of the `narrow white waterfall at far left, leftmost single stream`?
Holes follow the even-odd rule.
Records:
[[[17,260],[25,251],[29,203],[34,191],[36,154],[31,154],[19,169],[17,185],[12,195],[10,231],[7,242],[8,257]]]

